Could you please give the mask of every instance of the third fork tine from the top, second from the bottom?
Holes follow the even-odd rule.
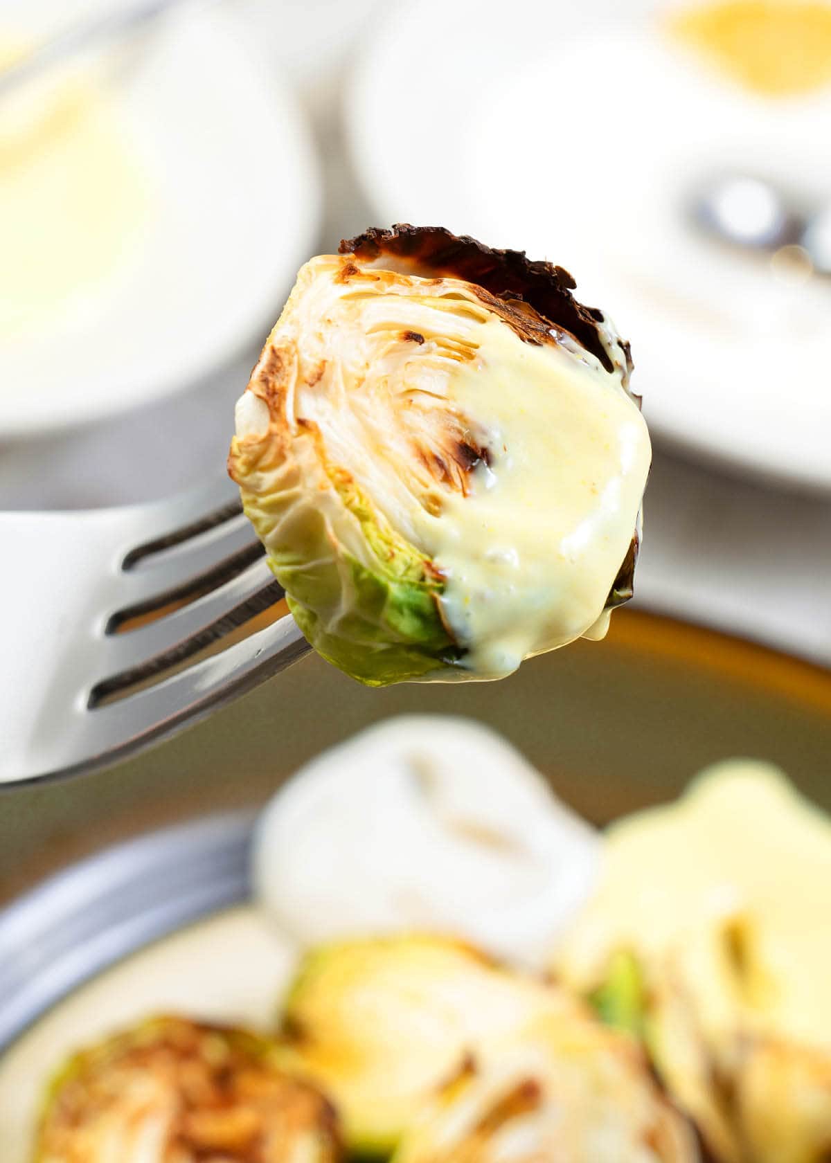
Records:
[[[274,579],[274,573],[261,557],[229,582],[157,621],[125,634],[106,635],[101,668],[95,678],[130,670],[155,655],[182,645],[264,590]]]

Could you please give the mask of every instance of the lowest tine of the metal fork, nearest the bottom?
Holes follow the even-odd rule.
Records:
[[[204,718],[311,649],[293,618],[286,615],[156,686],[88,712],[85,729],[94,748],[84,770],[133,751],[140,742],[169,735],[177,725]]]

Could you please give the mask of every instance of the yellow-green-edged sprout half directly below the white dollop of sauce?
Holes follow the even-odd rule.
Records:
[[[471,1050],[574,1005],[450,939],[324,946],[289,993],[280,1061],[332,1096],[351,1148],[384,1154]]]

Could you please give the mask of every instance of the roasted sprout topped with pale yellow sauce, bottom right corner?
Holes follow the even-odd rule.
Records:
[[[603,869],[556,971],[644,1039],[719,1163],[826,1163],[831,822],[739,761],[615,825]]]

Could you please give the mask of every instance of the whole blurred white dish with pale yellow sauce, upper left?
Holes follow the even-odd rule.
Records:
[[[66,7],[5,5],[0,66]],[[2,102],[5,438],[192,385],[265,326],[314,238],[315,159],[290,94],[232,10],[171,7]],[[256,185],[240,177],[254,169]]]

